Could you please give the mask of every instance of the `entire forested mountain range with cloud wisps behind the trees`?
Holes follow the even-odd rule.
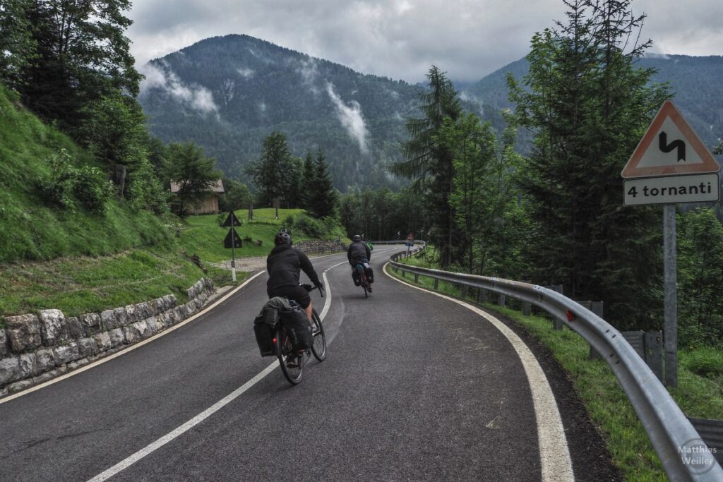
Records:
[[[713,147],[723,135],[723,57],[647,56],[638,65],[658,69],[654,81],[669,82],[676,106]],[[521,78],[527,69],[521,59],[459,88],[463,107],[502,129],[500,110],[511,107],[506,73]],[[246,181],[244,168],[278,131],[296,156],[321,147],[341,191],[403,184],[387,167],[403,158],[406,119],[420,115],[424,85],[361,74],[247,35],[202,40],[141,72],[150,131],[166,142],[196,142],[231,178]]]

